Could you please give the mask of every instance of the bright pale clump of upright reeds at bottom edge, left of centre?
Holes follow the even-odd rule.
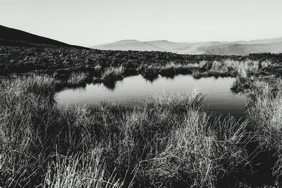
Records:
[[[88,153],[73,156],[56,154],[56,161],[48,165],[43,187],[122,187],[123,180],[116,180],[116,174],[106,175],[103,149],[99,146]]]

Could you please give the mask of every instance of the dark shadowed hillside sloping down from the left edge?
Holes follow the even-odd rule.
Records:
[[[0,45],[79,47],[0,25]]]

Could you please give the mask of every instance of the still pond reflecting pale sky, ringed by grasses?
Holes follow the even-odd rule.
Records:
[[[141,75],[125,77],[114,86],[87,84],[83,89],[66,89],[56,94],[61,106],[75,104],[99,104],[101,101],[118,104],[136,104],[152,98],[154,94],[184,94],[200,89],[207,96],[207,108],[214,113],[245,117],[246,97],[231,92],[234,78],[205,77],[194,79],[190,75],[178,75],[173,78],[159,76],[149,81]]]

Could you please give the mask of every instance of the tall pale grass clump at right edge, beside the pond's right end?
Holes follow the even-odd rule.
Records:
[[[273,88],[266,82],[252,83],[249,95],[248,119],[253,128],[262,133],[259,143],[272,149],[282,141],[282,97],[274,96]]]

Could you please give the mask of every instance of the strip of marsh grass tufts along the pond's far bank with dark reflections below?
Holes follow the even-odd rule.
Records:
[[[73,87],[85,87],[87,83],[104,83],[109,89],[114,89],[116,82],[124,77],[142,75],[149,82],[162,77],[173,78],[176,75],[190,75],[195,79],[202,77],[247,77],[254,76],[259,70],[269,68],[270,61],[234,61],[225,59],[222,61],[200,61],[199,63],[177,63],[171,61],[165,65],[141,64],[137,68],[126,68],[123,65],[118,67],[102,68],[96,65],[93,73],[75,72],[69,73],[63,78],[56,78],[57,90]],[[61,70],[62,71],[62,70]],[[60,71],[59,71],[60,72]],[[63,72],[64,73],[64,72]],[[90,78],[91,77],[91,78]],[[240,81],[240,80],[238,80]],[[235,91],[235,89],[233,89]]]

